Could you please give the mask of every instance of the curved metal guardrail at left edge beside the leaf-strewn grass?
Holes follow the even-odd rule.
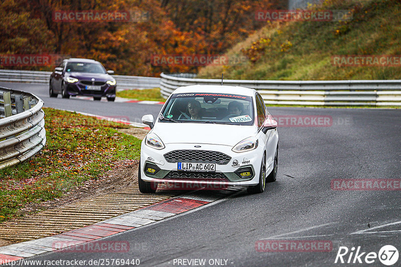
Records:
[[[43,104],[34,94],[0,87],[0,169],[31,158],[45,146]]]

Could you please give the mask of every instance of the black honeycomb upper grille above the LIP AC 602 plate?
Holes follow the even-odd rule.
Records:
[[[226,165],[230,162],[231,156],[208,150],[174,150],[164,154],[164,158],[169,163],[176,162],[202,162]]]

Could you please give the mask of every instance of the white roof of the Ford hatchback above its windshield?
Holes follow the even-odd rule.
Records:
[[[181,86],[173,91],[173,93],[189,93],[189,92],[232,93],[232,94],[254,96],[256,90],[242,86],[196,84],[196,85]]]

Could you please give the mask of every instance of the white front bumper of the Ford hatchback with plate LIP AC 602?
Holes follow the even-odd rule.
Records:
[[[141,178],[149,182],[169,182],[169,183],[187,183],[196,184],[199,182],[216,185],[256,185],[259,183],[259,172],[262,163],[263,147],[258,146],[256,149],[236,153],[232,151],[231,146],[216,144],[200,144],[202,147],[194,147],[195,143],[174,143],[165,144],[165,148],[157,150],[151,148],[142,141],[141,145]],[[164,154],[173,150],[207,150],[225,153],[231,157],[227,164],[216,163],[215,172],[205,171],[181,171],[177,169],[176,162],[168,162]],[[192,159],[196,162],[202,162]],[[237,160],[238,164],[233,164]],[[145,172],[145,167],[153,164],[159,168],[157,172],[149,174]],[[236,171],[246,168],[251,170],[252,175],[242,178]],[[238,171],[237,171],[238,173]]]

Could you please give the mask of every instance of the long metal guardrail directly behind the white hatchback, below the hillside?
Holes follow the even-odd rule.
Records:
[[[199,79],[182,73],[161,73],[160,91],[167,98],[179,86],[220,85],[221,79]],[[401,80],[239,80],[224,85],[257,89],[266,104],[388,106],[401,105]]]

